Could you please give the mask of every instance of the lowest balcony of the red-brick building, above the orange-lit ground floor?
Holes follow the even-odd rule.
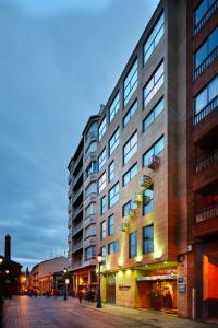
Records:
[[[218,233],[218,204],[205,208],[196,213],[193,227],[194,237],[205,237]]]

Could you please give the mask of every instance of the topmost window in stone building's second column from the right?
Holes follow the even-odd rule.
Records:
[[[124,106],[125,106],[137,87],[137,59],[135,60],[130,72],[128,73],[123,86],[124,86]]]

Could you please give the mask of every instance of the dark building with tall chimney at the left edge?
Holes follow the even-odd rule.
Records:
[[[4,256],[0,255],[0,294],[7,297],[17,295],[21,288],[22,266],[11,259],[11,237],[5,236]]]

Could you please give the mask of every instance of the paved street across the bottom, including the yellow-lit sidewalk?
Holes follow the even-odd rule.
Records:
[[[62,298],[28,296],[5,301],[3,328],[109,328],[109,327],[162,327],[213,328],[215,325],[193,323],[152,311],[131,309],[104,305],[97,309],[86,302]]]

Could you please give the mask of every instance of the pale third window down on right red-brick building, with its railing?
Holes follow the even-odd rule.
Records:
[[[218,75],[194,98],[194,124],[197,124],[218,105]]]

